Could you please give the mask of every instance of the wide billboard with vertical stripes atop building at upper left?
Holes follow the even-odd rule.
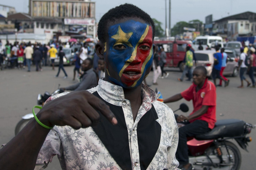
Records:
[[[32,17],[95,18],[95,2],[31,0]]]

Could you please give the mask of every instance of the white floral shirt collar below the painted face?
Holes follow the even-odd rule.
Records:
[[[125,99],[125,95],[123,93],[123,88],[118,85],[114,85],[110,82],[103,80],[103,78],[99,79],[98,86],[96,87],[98,94],[107,102],[123,106],[130,105],[130,101]],[[155,93],[152,89],[142,84],[141,87],[141,95],[142,95],[142,106],[148,110],[151,108],[151,103],[156,101],[159,97],[157,93]]]

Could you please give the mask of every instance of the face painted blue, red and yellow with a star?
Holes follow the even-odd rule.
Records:
[[[109,27],[104,58],[107,78],[125,88],[140,85],[153,62],[153,33],[148,24],[128,20]]]

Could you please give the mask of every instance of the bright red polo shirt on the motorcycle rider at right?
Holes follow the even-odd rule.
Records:
[[[197,85],[193,83],[187,90],[181,93],[185,100],[193,100],[194,110],[190,115],[199,110],[202,105],[207,105],[209,107],[205,114],[190,120],[190,122],[204,120],[208,122],[208,127],[213,129],[216,122],[216,87],[212,82],[208,81],[208,79],[205,80],[203,87],[198,92],[195,91],[196,86]]]

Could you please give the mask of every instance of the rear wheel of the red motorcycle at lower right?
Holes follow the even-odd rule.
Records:
[[[229,141],[220,142],[218,147],[221,149],[222,158],[225,161],[225,164],[228,164],[228,165],[221,165],[221,169],[239,170],[241,166],[241,154],[238,147]],[[217,156],[217,151],[215,147],[208,148],[206,152],[208,155]],[[214,162],[214,163],[219,163],[219,162]],[[213,167],[211,168],[215,169]],[[219,169],[219,167],[217,167],[216,169]]]

